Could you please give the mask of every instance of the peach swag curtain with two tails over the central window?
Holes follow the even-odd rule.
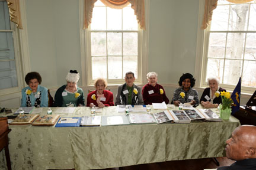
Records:
[[[92,9],[94,8],[94,3],[96,1],[97,0],[84,0],[84,29],[88,28],[89,24],[91,24]],[[129,3],[132,4],[132,9],[135,11],[140,28],[146,30],[144,0],[101,0],[101,2],[114,9],[122,9],[129,5]]]

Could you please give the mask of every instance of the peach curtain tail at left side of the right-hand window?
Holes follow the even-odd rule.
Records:
[[[206,29],[212,20],[213,9],[217,7],[217,0],[205,0],[204,17],[201,29]]]

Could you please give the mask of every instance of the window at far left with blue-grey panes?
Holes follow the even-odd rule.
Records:
[[[9,20],[6,1],[0,2],[0,90],[18,87],[15,25]]]

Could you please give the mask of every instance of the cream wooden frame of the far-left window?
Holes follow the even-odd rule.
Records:
[[[7,3],[7,2],[6,2]],[[6,32],[12,32],[12,38],[14,41],[14,54],[15,54],[15,66],[17,73],[17,87],[11,87],[8,89],[1,89],[0,94],[6,95],[11,93],[20,93],[21,89],[25,86],[24,75],[30,72],[30,56],[28,50],[28,37],[27,37],[27,19],[25,14],[25,1],[20,1],[20,14],[21,21],[23,21],[23,30],[18,29],[14,22],[10,21],[11,30]]]

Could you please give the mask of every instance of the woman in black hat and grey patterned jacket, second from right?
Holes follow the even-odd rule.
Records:
[[[172,103],[178,106],[180,103],[199,104],[199,97],[196,89],[193,89],[196,80],[190,73],[185,73],[178,81],[180,88],[174,91]]]

